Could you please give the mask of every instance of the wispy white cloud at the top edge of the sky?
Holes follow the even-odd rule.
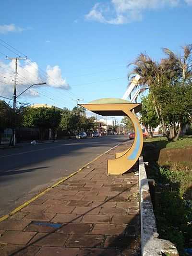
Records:
[[[110,0],[106,4],[96,3],[85,19],[106,24],[126,24],[141,20],[144,10],[176,7],[179,3],[180,0]]]

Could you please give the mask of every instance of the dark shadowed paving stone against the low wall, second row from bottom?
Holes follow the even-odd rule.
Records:
[[[116,235],[107,236],[104,247],[106,248],[120,248],[125,249],[135,249],[139,245],[138,238],[127,235]]]

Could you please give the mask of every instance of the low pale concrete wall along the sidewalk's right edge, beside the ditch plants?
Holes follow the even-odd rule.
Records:
[[[139,192],[140,192],[140,212],[141,212],[141,252],[142,256],[159,256],[166,253],[170,256],[179,256],[177,248],[170,241],[158,238],[156,218],[153,211],[153,204],[149,191],[144,159],[139,158]]]

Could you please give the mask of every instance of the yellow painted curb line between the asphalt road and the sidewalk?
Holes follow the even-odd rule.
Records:
[[[38,195],[34,196],[33,198],[31,198],[30,200],[26,201],[24,204],[22,204],[21,206],[15,208],[13,211],[11,211],[10,213],[2,216],[0,218],[0,222],[8,219],[10,216],[12,216],[13,214],[15,214],[16,212],[20,211],[21,209],[23,209],[25,206],[29,205],[30,203],[32,203],[33,201],[35,201],[38,197],[40,197],[41,195],[44,195],[45,193],[47,193],[49,190],[51,190],[52,188],[58,186],[60,183],[63,183],[64,181],[70,179],[73,175],[75,175],[76,173],[82,171],[86,166],[88,166],[89,164],[93,163],[94,161],[96,161],[98,158],[100,158],[101,156],[107,154],[110,150],[112,150],[113,148],[119,146],[120,144],[110,148],[109,150],[107,150],[106,152],[104,152],[103,154],[99,155],[98,157],[94,158],[92,161],[88,162],[87,164],[85,164],[82,168],[80,168],[78,171],[73,172],[72,174],[70,174],[67,177],[62,178],[59,182],[53,184],[52,186],[46,188],[44,191],[40,192]]]

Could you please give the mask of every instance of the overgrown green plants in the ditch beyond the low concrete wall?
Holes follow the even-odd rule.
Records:
[[[174,243],[180,256],[187,255],[184,248],[192,248],[192,171],[153,163],[147,173],[156,182],[154,211],[159,236]]]

